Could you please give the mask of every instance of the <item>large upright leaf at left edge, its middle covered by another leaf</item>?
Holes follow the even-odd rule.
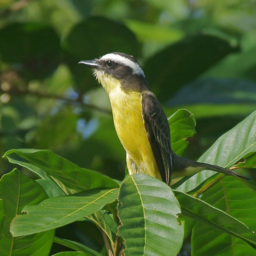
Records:
[[[10,233],[12,219],[21,213],[24,206],[38,204],[47,198],[44,190],[34,180],[14,169],[2,176],[0,197],[4,199],[5,209],[0,233],[1,255],[48,256],[54,238],[54,230],[18,238],[12,237]]]

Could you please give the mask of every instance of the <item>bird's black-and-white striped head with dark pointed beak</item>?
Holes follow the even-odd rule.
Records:
[[[108,93],[118,85],[124,91],[141,91],[148,88],[140,64],[129,54],[112,52],[99,59],[82,60],[79,63],[93,69],[94,75]]]

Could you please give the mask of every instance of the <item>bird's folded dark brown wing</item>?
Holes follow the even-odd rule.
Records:
[[[143,91],[142,115],[153,154],[162,180],[170,184],[172,172],[172,148],[168,120],[155,94]]]

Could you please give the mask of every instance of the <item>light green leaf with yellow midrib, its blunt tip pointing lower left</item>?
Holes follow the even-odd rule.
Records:
[[[12,221],[13,236],[24,236],[59,228],[101,210],[117,198],[117,188],[91,189],[69,196],[52,197],[26,206]]]

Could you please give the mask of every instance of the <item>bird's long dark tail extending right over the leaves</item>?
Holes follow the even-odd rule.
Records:
[[[241,174],[225,169],[218,165],[195,162],[195,161],[180,157],[175,153],[172,154],[172,163],[173,163],[172,178],[181,177],[181,176],[192,176],[197,172],[201,172],[203,170],[210,170],[210,171],[221,172],[227,175],[239,177],[244,180],[251,180]]]

